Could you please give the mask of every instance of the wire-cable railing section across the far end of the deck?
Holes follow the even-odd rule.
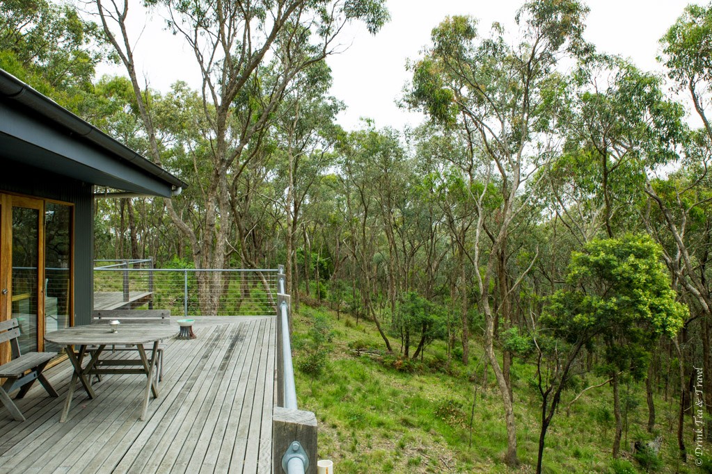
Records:
[[[100,262],[94,268],[95,309],[148,306],[174,316],[275,313],[277,269],[157,269],[151,259]]]

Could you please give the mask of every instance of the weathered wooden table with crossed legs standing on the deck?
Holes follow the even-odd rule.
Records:
[[[153,398],[158,398],[158,386],[154,377],[156,360],[158,355],[158,343],[168,340],[178,335],[177,325],[165,324],[120,324],[117,332],[108,325],[83,325],[73,328],[56,330],[45,335],[45,340],[50,343],[66,346],[68,359],[74,367],[71,382],[67,391],[67,400],[64,404],[60,423],[64,423],[69,414],[72,404],[72,397],[77,381],[80,381],[89,398],[96,397],[94,389],[90,384],[88,376],[103,374],[144,374],[147,377],[146,390],[141,408],[141,421],[146,419],[148,400],[151,394]],[[140,360],[110,360],[102,361],[98,364],[99,357],[106,346],[113,345],[133,345],[140,355]],[[152,348],[151,357],[147,357],[145,345]],[[85,355],[89,353],[88,348],[96,346],[90,360],[85,367],[82,367]],[[76,348],[78,347],[78,350]],[[110,362],[111,367],[105,367]],[[124,366],[124,367],[120,367]],[[132,367],[132,368],[129,368]]]

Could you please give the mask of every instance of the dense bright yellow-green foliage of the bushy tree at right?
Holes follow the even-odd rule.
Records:
[[[634,325],[672,337],[688,312],[646,235],[593,240],[572,254],[567,279],[570,288],[554,293],[544,321],[570,342]]]

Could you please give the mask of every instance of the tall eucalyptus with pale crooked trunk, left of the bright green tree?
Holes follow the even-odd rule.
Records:
[[[518,463],[515,418],[510,387],[494,352],[491,282],[511,222],[527,199],[520,195],[521,187],[555,151],[550,104],[561,90],[556,67],[560,58],[575,55],[584,46],[586,13],[577,1],[528,2],[516,16],[520,41],[513,45],[497,24],[492,36],[483,37],[473,18],[446,18],[434,28],[425,57],[412,67],[409,100],[464,136],[468,152],[477,161],[473,173],[484,183],[480,193],[471,195],[478,212],[473,273],[485,316],[485,352],[505,410],[508,465]],[[485,204],[491,185],[501,198],[495,215]],[[491,242],[486,242],[486,235]]]

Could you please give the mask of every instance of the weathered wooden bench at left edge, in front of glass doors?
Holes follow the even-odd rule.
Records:
[[[0,402],[4,404],[14,419],[25,421],[22,412],[10,398],[10,393],[15,389],[20,389],[15,398],[21,399],[27,394],[35,380],[39,380],[50,397],[58,397],[59,395],[42,373],[49,361],[57,355],[57,352],[28,352],[21,354],[19,337],[20,325],[16,319],[0,323],[0,343],[10,341],[10,347],[12,348],[12,360],[0,365],[0,377],[7,378],[2,387],[0,387]]]

